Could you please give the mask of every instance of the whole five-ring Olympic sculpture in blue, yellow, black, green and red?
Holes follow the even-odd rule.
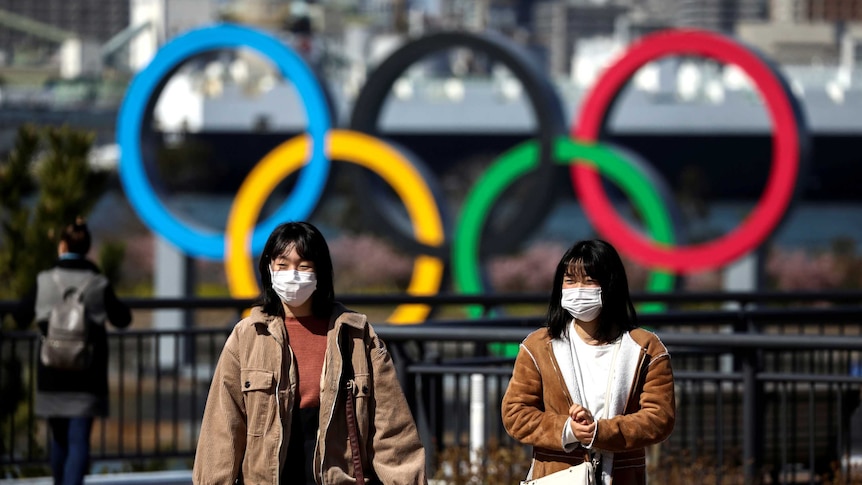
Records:
[[[243,181],[231,207],[224,234],[184,224],[158,200],[147,180],[141,128],[152,116],[158,92],[182,62],[201,53],[225,48],[251,48],[272,60],[290,79],[302,98],[308,119],[305,135],[273,149]],[[423,57],[451,48],[483,51],[501,62],[521,81],[537,120],[536,139],[501,155],[467,194],[454,229],[448,224],[440,191],[421,161],[379,138],[377,121],[388,93],[401,74]],[[649,164],[632,153],[602,143],[607,113],[625,83],[642,66],[661,57],[699,56],[734,64],[752,80],[762,95],[774,125],[772,171],[758,206],[743,224],[714,242],[674,246],[682,238],[673,214],[670,191]],[[568,131],[562,103],[544,74],[508,40],[493,35],[448,32],[409,42],[372,73],[353,107],[350,129],[333,129],[330,107],[319,82],[302,59],[274,37],[248,27],[217,25],[176,37],[133,80],[118,117],[121,148],[120,179],[133,208],[151,230],[189,256],[223,259],[231,294],[255,296],[253,254],[260,252],[272,228],[283,220],[305,219],[322,196],[330,160],[346,161],[376,173],[401,198],[410,219],[403,224],[380,217],[389,234],[416,252],[407,292],[434,295],[443,286],[447,260],[455,287],[463,293],[486,290],[481,271],[482,239],[494,250],[511,247],[512,234],[529,232],[542,220],[550,202],[553,174],[568,165],[575,192],[596,231],[620,252],[651,268],[647,289],[669,291],[675,274],[721,267],[760,245],[786,213],[796,192],[800,166],[807,155],[808,130],[798,101],[781,73],[768,60],[719,34],[671,30],[635,42],[595,83],[582,102],[577,123]],[[284,178],[299,171],[287,200],[268,219],[255,226],[266,198]],[[619,217],[604,193],[599,175],[620,187],[644,221],[647,235]],[[535,177],[538,197],[519,203],[518,223],[489,229],[488,218],[506,188],[527,175]],[[369,206],[385,212],[379,191],[371,191]],[[504,221],[505,222],[505,221]],[[422,304],[399,306],[392,323],[419,323],[431,308]]]

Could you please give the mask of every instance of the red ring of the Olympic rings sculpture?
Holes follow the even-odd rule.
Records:
[[[581,142],[596,142],[607,114],[634,73],[647,63],[669,55],[695,55],[741,68],[763,97],[773,124],[772,168],[763,195],[745,221],[730,233],[702,244],[670,247],[652,242],[634,230],[616,212],[602,186],[599,172],[588,164],[570,167],[572,184],[593,227],[620,252],[648,267],[692,273],[721,267],[758,247],[781,221],[796,187],[801,140],[805,129],[787,86],[756,53],[717,34],[682,30],[657,33],[633,44],[595,82],[585,97],[572,135]]]

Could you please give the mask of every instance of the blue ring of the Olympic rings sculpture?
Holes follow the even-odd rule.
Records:
[[[311,69],[295,52],[275,37],[237,25],[216,25],[192,30],[159,49],[138,73],[127,91],[117,121],[117,143],[121,150],[120,180],[129,202],[155,233],[161,234],[187,254],[223,259],[224,234],[195,229],[180,222],[161,203],[149,183],[141,155],[141,128],[152,99],[183,61],[206,51],[248,47],[269,58],[281,74],[290,79],[305,104],[312,153],[287,200],[252,235],[252,250],[263,249],[275,226],[286,219],[304,219],[320,199],[329,176],[330,161],[325,153],[326,133],[332,123],[326,96]]]

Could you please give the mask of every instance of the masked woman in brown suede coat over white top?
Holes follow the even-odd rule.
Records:
[[[675,419],[670,355],[637,327],[617,251],[581,241],[554,275],[547,327],[521,343],[502,402],[506,431],[533,447],[527,479],[599,460],[598,483],[646,482],[645,447]]]

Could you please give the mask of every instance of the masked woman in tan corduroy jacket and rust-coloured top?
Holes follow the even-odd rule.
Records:
[[[366,316],[335,301],[320,231],[279,225],[258,269],[260,298],[215,369],[194,483],[427,483],[392,359]]]

